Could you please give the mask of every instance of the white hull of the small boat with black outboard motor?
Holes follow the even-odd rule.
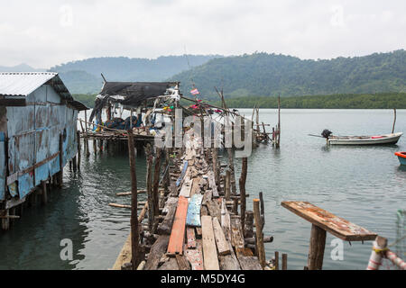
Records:
[[[403,135],[402,132],[374,136],[334,136],[327,138],[330,145],[383,145],[396,144]]]

